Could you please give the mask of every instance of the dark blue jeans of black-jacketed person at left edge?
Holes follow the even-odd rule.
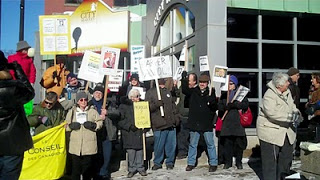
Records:
[[[23,154],[21,156],[0,156],[0,179],[18,180],[22,161]]]

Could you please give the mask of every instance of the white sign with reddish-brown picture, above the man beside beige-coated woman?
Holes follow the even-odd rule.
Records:
[[[100,73],[104,75],[116,74],[119,64],[120,49],[118,48],[101,48]]]

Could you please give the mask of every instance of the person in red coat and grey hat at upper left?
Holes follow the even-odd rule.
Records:
[[[27,41],[19,41],[17,43],[16,53],[8,56],[8,63],[17,61],[17,63],[21,65],[24,73],[28,77],[29,82],[33,86],[34,82],[36,81],[36,68],[33,64],[33,55],[32,57],[28,56],[28,49],[30,48],[31,46]],[[14,76],[13,71],[10,71],[10,74],[11,76]]]

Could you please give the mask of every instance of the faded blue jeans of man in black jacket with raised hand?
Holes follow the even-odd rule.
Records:
[[[208,131],[203,133],[204,140],[207,144],[208,156],[209,156],[209,165],[216,166],[218,164],[216,146],[213,140],[213,132]],[[200,133],[196,131],[190,131],[190,144],[188,151],[188,165],[194,166],[196,164],[197,158],[197,147],[200,139]]]

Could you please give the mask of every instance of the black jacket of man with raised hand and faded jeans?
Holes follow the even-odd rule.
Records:
[[[187,79],[182,81],[182,93],[189,97],[188,128],[191,131],[213,131],[213,118],[217,110],[216,94],[212,89],[209,96],[209,88],[201,91],[199,86],[188,87]]]

